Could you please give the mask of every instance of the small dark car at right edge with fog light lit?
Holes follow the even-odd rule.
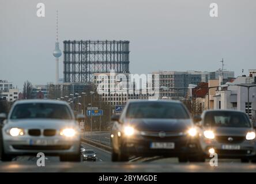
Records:
[[[204,155],[249,162],[255,155],[255,130],[249,117],[237,110],[206,110],[195,116]]]

